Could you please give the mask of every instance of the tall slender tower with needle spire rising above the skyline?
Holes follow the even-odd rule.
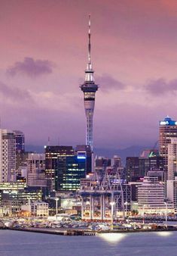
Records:
[[[90,15],[88,25],[88,64],[87,69],[85,70],[85,82],[80,87],[82,92],[84,92],[84,108],[87,118],[86,145],[90,145],[90,148],[93,151],[93,111],[95,106],[95,93],[99,86],[94,82],[94,71],[91,64]]]

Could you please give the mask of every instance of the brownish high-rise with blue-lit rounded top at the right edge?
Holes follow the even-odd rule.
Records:
[[[166,117],[159,123],[159,153],[164,158],[164,169],[168,165],[168,145],[172,138],[177,138],[177,122]]]

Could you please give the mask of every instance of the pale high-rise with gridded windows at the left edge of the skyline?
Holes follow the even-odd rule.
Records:
[[[0,129],[0,182],[14,181],[16,140],[14,133]]]

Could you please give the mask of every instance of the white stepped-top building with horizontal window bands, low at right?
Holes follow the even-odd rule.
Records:
[[[159,213],[166,211],[164,203],[164,187],[157,177],[145,176],[142,185],[138,187],[139,212]]]

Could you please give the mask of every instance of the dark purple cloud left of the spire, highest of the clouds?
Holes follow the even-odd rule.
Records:
[[[53,64],[47,60],[34,60],[26,57],[24,61],[17,61],[11,67],[8,67],[7,73],[10,76],[15,76],[17,73],[23,73],[27,76],[41,76],[43,74],[52,73]]]

